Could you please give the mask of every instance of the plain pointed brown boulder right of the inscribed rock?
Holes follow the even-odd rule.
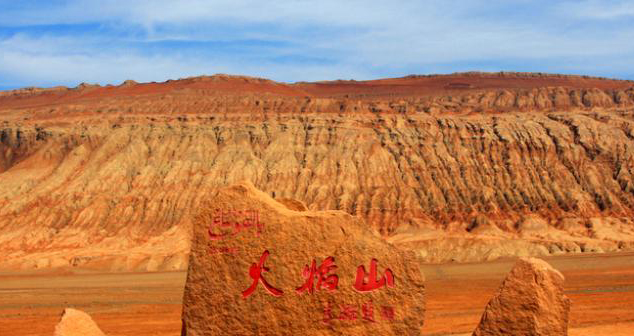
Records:
[[[568,335],[564,276],[541,259],[520,259],[489,301],[474,336]]]

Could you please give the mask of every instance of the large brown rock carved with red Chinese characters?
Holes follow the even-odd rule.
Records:
[[[183,335],[421,334],[421,261],[348,213],[294,211],[243,183],[203,203],[193,235]]]

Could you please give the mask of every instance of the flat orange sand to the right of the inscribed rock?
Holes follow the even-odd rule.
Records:
[[[571,336],[634,335],[634,254],[545,258],[566,277]],[[472,331],[512,260],[425,266],[425,335]]]

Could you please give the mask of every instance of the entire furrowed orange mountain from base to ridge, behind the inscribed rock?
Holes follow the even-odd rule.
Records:
[[[0,266],[182,269],[244,179],[428,261],[632,249],[633,116],[631,82],[544,75],[4,93]]]

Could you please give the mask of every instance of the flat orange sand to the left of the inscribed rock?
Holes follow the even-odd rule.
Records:
[[[0,335],[53,335],[64,307],[89,313],[109,336],[180,335],[186,274],[0,276]]]

